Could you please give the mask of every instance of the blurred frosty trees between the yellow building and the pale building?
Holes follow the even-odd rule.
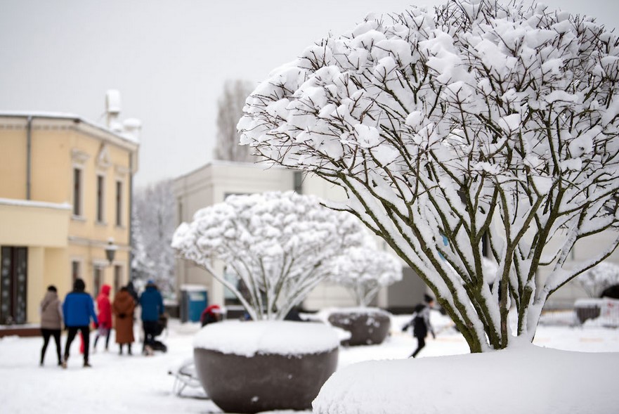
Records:
[[[159,181],[137,189],[133,195],[133,209],[134,222],[139,224],[141,249],[146,255],[141,257],[142,274],[154,279],[162,292],[170,294],[174,292],[175,264],[170,243],[176,228],[172,181]]]

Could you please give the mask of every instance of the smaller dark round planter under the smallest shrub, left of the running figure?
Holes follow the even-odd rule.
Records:
[[[389,313],[382,309],[340,309],[330,314],[329,323],[351,332],[346,346],[382,344],[391,327]]]

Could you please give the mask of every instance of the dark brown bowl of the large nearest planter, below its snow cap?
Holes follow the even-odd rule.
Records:
[[[254,322],[240,323],[242,325]],[[295,323],[297,324],[297,323]],[[316,328],[315,323],[301,323]],[[219,325],[219,324],[213,324]],[[210,325],[207,325],[207,327]],[[327,328],[325,325],[318,328]],[[329,328],[331,329],[331,328]],[[312,335],[313,330],[308,331]],[[221,332],[211,332],[219,335]],[[242,332],[245,334],[245,332]],[[252,332],[248,332],[248,335]],[[334,335],[334,334],[333,334]],[[281,344],[303,341],[297,330],[294,338],[279,337]],[[335,335],[334,335],[335,336]],[[308,342],[313,339],[308,336]],[[335,347],[327,351],[268,353],[256,351],[247,355],[244,347],[252,338],[239,340],[239,352],[226,352],[204,347],[194,348],[195,368],[202,387],[214,403],[226,413],[259,413],[271,410],[307,410],[322,384],[337,367]],[[260,342],[260,341],[257,341]]]

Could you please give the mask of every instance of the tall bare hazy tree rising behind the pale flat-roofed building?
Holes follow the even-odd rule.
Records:
[[[253,162],[251,148],[239,145],[236,124],[243,115],[245,99],[252,92],[252,84],[241,79],[226,81],[217,101],[216,160]]]

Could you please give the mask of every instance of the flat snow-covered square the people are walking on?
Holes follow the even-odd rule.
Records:
[[[406,316],[393,320],[393,335],[386,343],[370,347],[342,348],[339,367],[372,359],[407,358],[416,341],[399,327]],[[429,337],[422,358],[466,354],[467,344],[462,335],[449,327],[445,318],[433,315],[436,339]],[[137,328],[137,325],[136,325]],[[56,366],[55,346],[50,344],[46,366],[39,367],[41,338],[5,337],[0,339],[0,412],[17,413],[220,413],[211,401],[195,398],[199,390],[176,396],[174,377],[170,369],[193,355],[193,335],[197,324],[171,321],[162,337],[169,351],[155,356],[139,355],[135,345],[133,356],[119,356],[117,345],[110,340],[110,351],[92,354],[93,368],[82,368],[82,357],[74,342],[69,367]],[[540,326],[535,344],[568,351],[619,352],[619,330],[605,328],[569,328]],[[113,334],[112,334],[113,335]],[[94,334],[92,334],[94,337]],[[63,345],[64,345],[63,337]],[[92,342],[91,342],[92,343]]]

